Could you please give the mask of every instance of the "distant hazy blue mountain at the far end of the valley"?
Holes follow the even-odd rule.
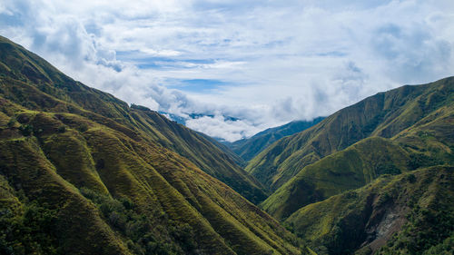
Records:
[[[301,132],[310,128],[316,123],[320,123],[323,117],[318,117],[312,121],[295,121],[274,128],[269,128],[259,132],[251,138],[242,139],[236,142],[224,142],[233,152],[238,154],[246,162],[250,161],[257,154],[262,152],[271,143],[278,141],[284,136]]]

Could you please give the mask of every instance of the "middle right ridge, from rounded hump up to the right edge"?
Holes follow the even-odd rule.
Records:
[[[380,174],[398,174],[438,164],[454,165],[452,93],[437,110],[387,139],[372,136],[304,167],[275,191],[262,207],[277,218],[311,202],[360,188]]]

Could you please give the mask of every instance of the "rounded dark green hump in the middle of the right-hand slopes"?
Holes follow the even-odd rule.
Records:
[[[380,174],[409,171],[410,155],[383,138],[369,138],[305,167],[263,201],[278,219],[312,202],[360,188]]]

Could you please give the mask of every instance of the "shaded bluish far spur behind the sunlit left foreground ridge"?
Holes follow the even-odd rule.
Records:
[[[266,198],[262,184],[244,172],[238,165],[244,162],[230,150],[223,148],[222,144],[170,121],[159,113],[147,110],[137,112],[141,112],[145,118],[133,113],[133,120],[138,126],[142,126],[142,130],[155,137],[155,142],[189,159],[202,171],[223,181],[250,201],[257,203]]]

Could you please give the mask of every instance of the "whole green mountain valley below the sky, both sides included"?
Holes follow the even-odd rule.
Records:
[[[450,254],[454,78],[217,142],[0,37],[0,253]]]

